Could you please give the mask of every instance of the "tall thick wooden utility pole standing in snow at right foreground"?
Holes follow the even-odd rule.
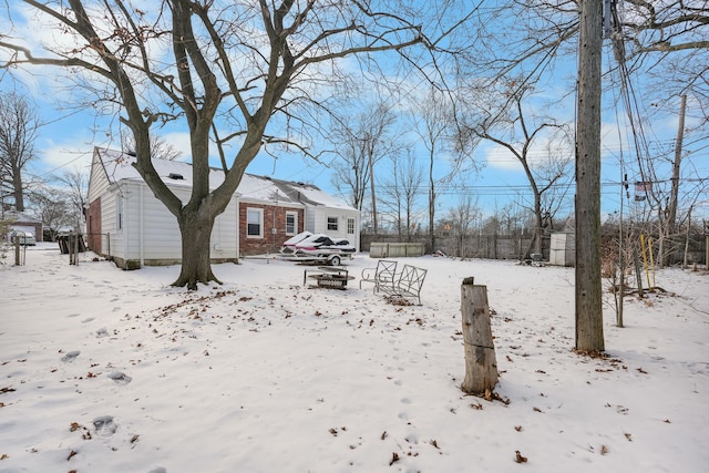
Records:
[[[580,1],[576,119],[576,350],[605,351],[600,285],[600,65],[604,4]]]

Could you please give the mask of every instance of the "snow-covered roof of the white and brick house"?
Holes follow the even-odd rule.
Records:
[[[137,169],[133,166],[135,156],[105,148],[95,150],[111,184],[120,181],[143,181]],[[153,158],[153,166],[163,181],[171,186],[192,186],[192,164],[181,161],[167,161]],[[182,176],[178,178],[176,176]],[[209,185],[217,187],[224,182],[224,172],[212,167]],[[279,204],[298,204],[326,206],[356,210],[339,198],[321,191],[312,184],[295,183],[275,179],[267,176],[244,174],[236,192],[240,198],[256,202],[277,202]]]

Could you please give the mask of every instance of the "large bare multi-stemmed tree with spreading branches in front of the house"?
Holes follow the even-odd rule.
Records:
[[[436,13],[435,4],[425,11],[420,2],[409,8],[404,0],[173,0],[146,11],[124,1],[23,3],[38,19],[54,22],[68,43],[45,45],[47,55],[39,55],[25,42],[6,35],[0,49],[9,59],[0,68],[72,70],[96,96],[119,107],[122,124],[135,140],[136,169],[178,222],[182,270],[173,284],[188,288],[218,280],[209,256],[214,220],[258,152],[269,145],[306,151],[308,130],[314,130],[308,120],[323,106],[327,83],[346,79],[338,75],[338,60],[357,55],[376,64],[379,53],[390,52],[392,60],[411,53],[414,45],[430,50],[436,40],[429,40],[424,31],[449,28],[423,17]],[[9,7],[11,12],[14,8]],[[189,132],[194,173],[192,195],[184,204],[151,161],[152,127],[176,120]],[[214,189],[210,140],[225,171],[224,182]]]

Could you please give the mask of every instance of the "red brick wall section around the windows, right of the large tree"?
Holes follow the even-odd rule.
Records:
[[[247,235],[248,219],[247,210],[249,208],[260,209],[263,212],[261,237],[250,237]],[[264,255],[266,253],[278,253],[282,243],[292,235],[286,235],[286,213],[297,213],[297,232],[304,230],[305,212],[297,207],[276,207],[263,204],[239,203],[239,250],[243,256]],[[276,233],[271,232],[276,228]]]

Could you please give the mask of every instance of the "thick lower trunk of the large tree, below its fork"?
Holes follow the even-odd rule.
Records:
[[[197,289],[197,282],[222,284],[212,273],[212,228],[216,216],[201,212],[197,206],[186,206],[177,219],[182,236],[182,270],[173,286]]]

